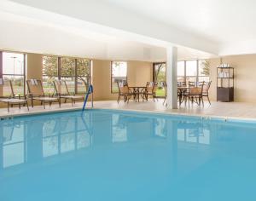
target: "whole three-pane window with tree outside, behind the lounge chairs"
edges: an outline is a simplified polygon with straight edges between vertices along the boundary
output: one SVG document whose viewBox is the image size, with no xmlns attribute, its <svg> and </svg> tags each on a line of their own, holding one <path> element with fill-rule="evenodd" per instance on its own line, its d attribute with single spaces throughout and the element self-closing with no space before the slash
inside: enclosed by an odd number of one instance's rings
<svg viewBox="0 0 256 201">
<path fill-rule="evenodd" d="M 81 94 L 89 89 L 90 60 L 44 55 L 43 80 L 45 94 L 53 94 L 53 81 L 62 79 L 70 93 Z"/>
</svg>

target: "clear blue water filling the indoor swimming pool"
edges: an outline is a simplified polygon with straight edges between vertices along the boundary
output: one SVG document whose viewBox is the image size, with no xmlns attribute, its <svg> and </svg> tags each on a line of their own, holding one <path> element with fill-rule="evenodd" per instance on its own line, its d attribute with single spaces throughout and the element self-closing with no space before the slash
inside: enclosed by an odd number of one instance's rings
<svg viewBox="0 0 256 201">
<path fill-rule="evenodd" d="M 256 200 L 256 123 L 89 110 L 0 122 L 0 200 Z"/>
</svg>

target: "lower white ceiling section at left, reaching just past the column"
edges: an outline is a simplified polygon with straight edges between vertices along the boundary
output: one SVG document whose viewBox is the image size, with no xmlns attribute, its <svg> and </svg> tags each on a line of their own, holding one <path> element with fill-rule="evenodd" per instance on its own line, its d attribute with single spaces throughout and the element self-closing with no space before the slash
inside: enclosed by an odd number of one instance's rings
<svg viewBox="0 0 256 201">
<path fill-rule="evenodd" d="M 101 27 L 82 20 L 9 3 L 2 5 L 0 49 L 104 60 L 166 60 L 163 47 L 106 34 Z M 178 48 L 179 60 L 210 56 L 199 50 Z"/>
</svg>

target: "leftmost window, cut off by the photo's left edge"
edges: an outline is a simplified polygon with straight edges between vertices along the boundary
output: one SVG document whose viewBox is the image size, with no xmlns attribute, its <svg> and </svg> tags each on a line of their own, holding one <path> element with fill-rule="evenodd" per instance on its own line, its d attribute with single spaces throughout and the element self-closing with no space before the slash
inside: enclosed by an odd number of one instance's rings
<svg viewBox="0 0 256 201">
<path fill-rule="evenodd" d="M 4 84 L 1 95 L 12 95 L 9 81 L 13 84 L 15 95 L 25 94 L 25 58 L 26 55 L 11 52 L 0 52 L 3 54 L 3 67 L 0 67 L 0 76 L 3 78 Z"/>
</svg>

